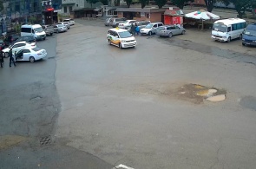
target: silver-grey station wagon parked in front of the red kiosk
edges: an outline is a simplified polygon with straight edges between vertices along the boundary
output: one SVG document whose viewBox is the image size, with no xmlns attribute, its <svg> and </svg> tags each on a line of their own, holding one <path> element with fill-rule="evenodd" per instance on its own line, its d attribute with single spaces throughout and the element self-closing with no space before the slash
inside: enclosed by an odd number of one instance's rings
<svg viewBox="0 0 256 169">
<path fill-rule="evenodd" d="M 175 26 L 175 25 L 165 25 L 165 26 L 158 27 L 158 29 L 156 29 L 157 36 L 172 37 L 176 35 L 184 35 L 185 32 L 186 32 L 186 29 L 179 26 Z"/>
</svg>

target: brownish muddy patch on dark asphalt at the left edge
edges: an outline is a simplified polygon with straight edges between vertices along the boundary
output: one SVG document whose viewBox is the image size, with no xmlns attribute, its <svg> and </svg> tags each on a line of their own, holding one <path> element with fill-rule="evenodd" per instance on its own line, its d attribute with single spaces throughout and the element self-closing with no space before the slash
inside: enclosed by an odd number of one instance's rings
<svg viewBox="0 0 256 169">
<path fill-rule="evenodd" d="M 2 135 L 0 136 L 0 150 L 8 149 L 11 146 L 16 146 L 25 140 L 27 140 L 26 137 L 19 135 Z"/>
</svg>

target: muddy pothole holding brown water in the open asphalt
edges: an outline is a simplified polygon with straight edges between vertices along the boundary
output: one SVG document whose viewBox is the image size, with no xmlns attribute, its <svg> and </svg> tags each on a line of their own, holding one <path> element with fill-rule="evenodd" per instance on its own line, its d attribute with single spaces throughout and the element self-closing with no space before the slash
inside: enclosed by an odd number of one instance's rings
<svg viewBox="0 0 256 169">
<path fill-rule="evenodd" d="M 226 90 L 209 88 L 199 84 L 186 84 L 177 89 L 176 95 L 181 100 L 200 104 L 204 100 L 213 102 L 224 101 L 226 99 Z"/>
</svg>

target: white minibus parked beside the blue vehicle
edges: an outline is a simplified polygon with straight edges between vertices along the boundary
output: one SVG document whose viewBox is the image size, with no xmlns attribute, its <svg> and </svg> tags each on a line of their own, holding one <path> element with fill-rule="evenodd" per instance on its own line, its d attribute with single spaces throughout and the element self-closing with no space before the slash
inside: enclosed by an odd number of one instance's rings
<svg viewBox="0 0 256 169">
<path fill-rule="evenodd" d="M 229 18 L 213 23 L 212 38 L 221 42 L 230 42 L 232 39 L 242 38 L 246 29 L 246 20 Z"/>
</svg>

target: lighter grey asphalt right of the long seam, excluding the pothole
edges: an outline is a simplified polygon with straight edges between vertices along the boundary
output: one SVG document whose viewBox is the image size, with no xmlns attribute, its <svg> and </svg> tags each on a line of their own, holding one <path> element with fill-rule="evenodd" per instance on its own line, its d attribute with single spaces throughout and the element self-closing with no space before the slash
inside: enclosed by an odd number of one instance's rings
<svg viewBox="0 0 256 169">
<path fill-rule="evenodd" d="M 118 49 L 102 21 L 76 22 L 57 37 L 57 140 L 114 166 L 254 168 L 255 48 L 191 29 Z M 182 100 L 187 84 L 225 90 L 226 100 Z"/>
</svg>

